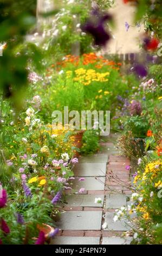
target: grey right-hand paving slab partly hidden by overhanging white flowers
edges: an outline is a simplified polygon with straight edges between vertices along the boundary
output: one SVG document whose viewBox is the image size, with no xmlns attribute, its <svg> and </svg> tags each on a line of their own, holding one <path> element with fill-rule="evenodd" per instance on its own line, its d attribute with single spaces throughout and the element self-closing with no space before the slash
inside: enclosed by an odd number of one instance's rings
<svg viewBox="0 0 162 256">
<path fill-rule="evenodd" d="M 129 225 L 126 223 L 127 220 L 121 220 L 114 222 L 114 213 L 113 212 L 106 212 L 105 214 L 105 222 L 107 222 L 108 227 L 104 230 L 115 230 L 115 231 L 127 231 L 130 230 Z M 130 223 L 128 223 L 130 224 Z"/>
</svg>

